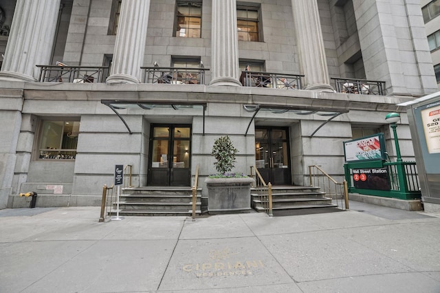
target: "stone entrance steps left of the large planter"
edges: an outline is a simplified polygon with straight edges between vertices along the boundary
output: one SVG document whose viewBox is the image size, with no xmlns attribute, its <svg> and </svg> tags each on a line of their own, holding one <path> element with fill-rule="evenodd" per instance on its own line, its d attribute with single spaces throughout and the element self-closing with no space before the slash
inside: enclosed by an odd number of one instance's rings
<svg viewBox="0 0 440 293">
<path fill-rule="evenodd" d="M 117 202 L 112 202 L 109 215 L 116 215 Z M 201 188 L 197 190 L 196 215 L 201 214 Z M 138 187 L 122 188 L 119 202 L 121 216 L 190 216 L 192 188 Z"/>
</svg>

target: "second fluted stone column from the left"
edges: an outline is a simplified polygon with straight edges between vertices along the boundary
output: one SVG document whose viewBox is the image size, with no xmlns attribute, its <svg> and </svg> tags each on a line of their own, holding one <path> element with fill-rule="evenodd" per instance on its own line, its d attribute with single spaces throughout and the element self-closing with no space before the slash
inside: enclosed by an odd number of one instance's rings
<svg viewBox="0 0 440 293">
<path fill-rule="evenodd" d="M 107 83 L 140 83 L 150 0 L 122 0 Z"/>
</svg>

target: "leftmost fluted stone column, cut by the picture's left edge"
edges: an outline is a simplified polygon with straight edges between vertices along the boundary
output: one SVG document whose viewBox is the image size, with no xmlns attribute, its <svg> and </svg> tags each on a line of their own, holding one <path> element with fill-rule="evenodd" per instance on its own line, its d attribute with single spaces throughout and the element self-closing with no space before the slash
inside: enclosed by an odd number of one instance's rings
<svg viewBox="0 0 440 293">
<path fill-rule="evenodd" d="M 61 0 L 17 0 L 0 79 L 36 81 L 52 54 Z"/>
</svg>

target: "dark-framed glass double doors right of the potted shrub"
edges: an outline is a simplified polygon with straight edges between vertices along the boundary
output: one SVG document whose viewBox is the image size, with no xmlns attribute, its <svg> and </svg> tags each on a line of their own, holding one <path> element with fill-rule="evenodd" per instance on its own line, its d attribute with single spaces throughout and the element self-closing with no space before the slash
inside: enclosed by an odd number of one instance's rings
<svg viewBox="0 0 440 293">
<path fill-rule="evenodd" d="M 266 183 L 292 184 L 288 128 L 257 127 L 255 150 L 256 168 Z"/>
</svg>

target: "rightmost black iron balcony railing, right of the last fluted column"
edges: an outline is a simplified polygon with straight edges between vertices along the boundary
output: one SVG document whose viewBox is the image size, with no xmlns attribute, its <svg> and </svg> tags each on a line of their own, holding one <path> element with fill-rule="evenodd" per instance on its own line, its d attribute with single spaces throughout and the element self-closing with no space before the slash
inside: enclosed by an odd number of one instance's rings
<svg viewBox="0 0 440 293">
<path fill-rule="evenodd" d="M 354 78 L 331 78 L 338 93 L 384 96 L 385 82 Z"/>
</svg>

